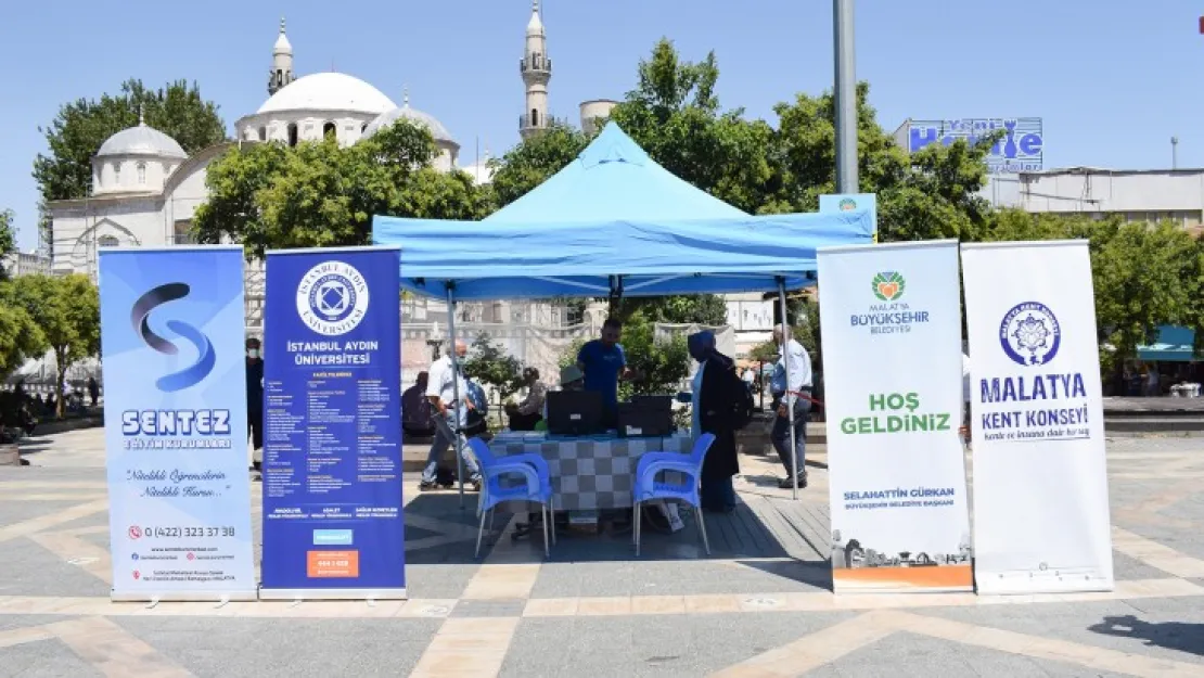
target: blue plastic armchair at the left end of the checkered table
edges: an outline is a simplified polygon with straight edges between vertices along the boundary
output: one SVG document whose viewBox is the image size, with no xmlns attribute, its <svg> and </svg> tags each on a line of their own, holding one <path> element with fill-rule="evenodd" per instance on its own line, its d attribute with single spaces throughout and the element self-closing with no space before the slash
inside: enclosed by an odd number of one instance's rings
<svg viewBox="0 0 1204 678">
<path fill-rule="evenodd" d="M 485 517 L 494 525 L 494 507 L 503 501 L 530 501 L 539 505 L 543 517 L 543 554 L 548 556 L 548 530 L 556 512 L 556 501 L 551 493 L 551 474 L 548 461 L 538 454 L 508 454 L 494 456 L 489 446 L 480 438 L 470 438 L 468 447 L 480 466 L 480 497 L 477 501 L 477 514 L 480 526 L 477 529 L 477 552 L 480 556 L 480 538 L 485 533 Z M 503 487 L 502 478 L 521 478 L 520 484 Z M 556 532 L 551 531 L 551 543 L 556 543 Z"/>
</svg>

